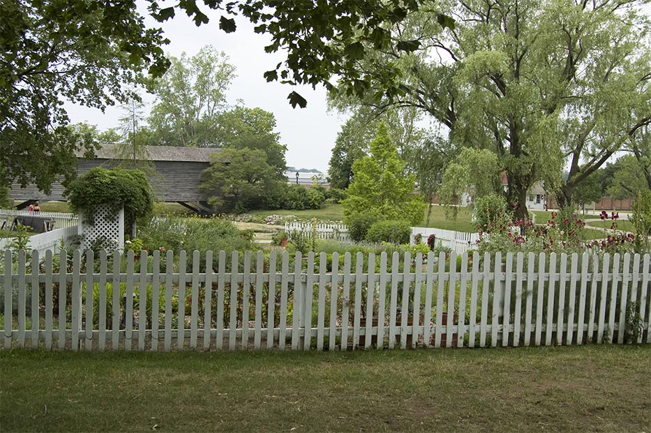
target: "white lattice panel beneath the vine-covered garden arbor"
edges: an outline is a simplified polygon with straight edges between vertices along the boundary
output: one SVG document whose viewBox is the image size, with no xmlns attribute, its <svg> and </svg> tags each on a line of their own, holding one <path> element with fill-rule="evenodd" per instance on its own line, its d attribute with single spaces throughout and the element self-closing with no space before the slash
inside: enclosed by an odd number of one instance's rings
<svg viewBox="0 0 651 433">
<path fill-rule="evenodd" d="M 108 250 L 122 249 L 124 245 L 124 209 L 121 209 L 117 216 L 112 214 L 108 205 L 100 205 L 95 213 L 95 224 L 93 226 L 84 223 L 83 218 L 79 219 L 82 235 L 82 249 L 88 249 L 91 244 L 96 244 L 102 239 L 101 246 Z"/>
</svg>

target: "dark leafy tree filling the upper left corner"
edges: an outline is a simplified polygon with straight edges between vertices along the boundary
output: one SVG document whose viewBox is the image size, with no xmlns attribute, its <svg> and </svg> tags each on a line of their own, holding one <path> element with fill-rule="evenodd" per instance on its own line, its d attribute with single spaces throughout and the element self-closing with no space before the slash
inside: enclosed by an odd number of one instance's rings
<svg viewBox="0 0 651 433">
<path fill-rule="evenodd" d="M 62 101 L 104 108 L 121 85 L 167 67 L 160 29 L 146 29 L 135 1 L 0 2 L 0 184 L 43 191 L 75 175 L 75 150 L 93 142 L 66 126 Z"/>
</svg>

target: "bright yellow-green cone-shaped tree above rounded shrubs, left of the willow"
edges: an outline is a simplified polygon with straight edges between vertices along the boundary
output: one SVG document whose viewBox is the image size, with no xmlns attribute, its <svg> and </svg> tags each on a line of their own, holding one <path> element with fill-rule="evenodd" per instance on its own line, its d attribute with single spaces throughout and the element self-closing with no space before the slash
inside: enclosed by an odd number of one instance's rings
<svg viewBox="0 0 651 433">
<path fill-rule="evenodd" d="M 341 202 L 345 219 L 373 214 L 382 219 L 423 220 L 425 202 L 414 194 L 416 177 L 405 173 L 405 163 L 382 122 L 370 145 L 371 154 L 352 165 L 354 181 Z"/>
</svg>

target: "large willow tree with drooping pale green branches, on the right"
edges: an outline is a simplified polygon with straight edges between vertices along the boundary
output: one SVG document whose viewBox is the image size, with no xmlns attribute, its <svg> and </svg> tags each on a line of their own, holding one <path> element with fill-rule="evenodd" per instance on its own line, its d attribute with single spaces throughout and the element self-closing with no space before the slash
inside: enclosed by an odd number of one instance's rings
<svg viewBox="0 0 651 433">
<path fill-rule="evenodd" d="M 417 107 L 447 127 L 454 145 L 490 149 L 507 173 L 504 196 L 518 219 L 537 181 L 567 205 L 574 186 L 650 122 L 643 3 L 425 2 L 394 26 L 410 39 L 403 50 L 360 62 L 400 71 L 401 92 L 371 89 L 362 103 Z M 456 27 L 437 25 L 433 10 L 452 11 Z"/>
</svg>

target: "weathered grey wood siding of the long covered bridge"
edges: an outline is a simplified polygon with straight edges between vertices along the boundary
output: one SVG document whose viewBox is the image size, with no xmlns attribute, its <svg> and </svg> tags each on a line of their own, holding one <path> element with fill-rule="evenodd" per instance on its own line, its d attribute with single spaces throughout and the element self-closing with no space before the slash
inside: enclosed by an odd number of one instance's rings
<svg viewBox="0 0 651 433">
<path fill-rule="evenodd" d="M 110 166 L 106 159 L 80 160 L 77 173 L 86 173 L 93 167 Z M 150 182 L 158 200 L 167 202 L 177 201 L 206 201 L 208 196 L 199 188 L 201 173 L 208 168 L 207 162 L 190 161 L 156 161 L 158 176 L 150 177 Z M 13 200 L 66 200 L 63 197 L 63 185 L 59 182 L 52 184 L 52 193 L 46 195 L 38 191 L 36 186 L 11 186 L 10 198 Z"/>
</svg>

